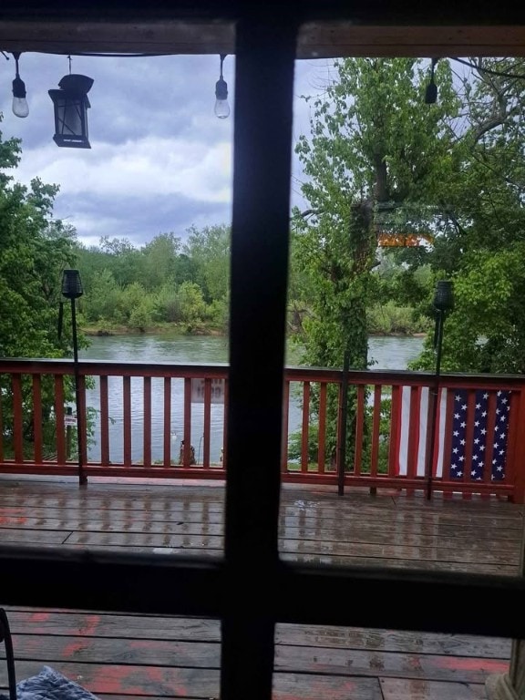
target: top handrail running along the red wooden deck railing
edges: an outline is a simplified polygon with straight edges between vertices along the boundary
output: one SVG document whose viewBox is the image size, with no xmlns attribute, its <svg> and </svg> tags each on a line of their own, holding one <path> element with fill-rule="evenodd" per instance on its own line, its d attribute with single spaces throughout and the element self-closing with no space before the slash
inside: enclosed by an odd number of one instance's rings
<svg viewBox="0 0 525 700">
<path fill-rule="evenodd" d="M 70 358 L 0 358 L 0 374 L 71 375 L 73 360 Z M 116 362 L 108 360 L 80 360 L 82 376 L 180 376 L 180 377 L 226 377 L 230 365 L 227 363 L 145 363 Z M 284 376 L 292 382 L 341 382 L 342 369 L 326 367 L 287 366 Z M 436 380 L 432 372 L 391 369 L 350 369 L 348 382 L 352 385 L 429 386 Z M 449 388 L 487 387 L 516 389 L 525 385 L 525 375 L 448 374 L 439 377 L 441 386 Z"/>
</svg>

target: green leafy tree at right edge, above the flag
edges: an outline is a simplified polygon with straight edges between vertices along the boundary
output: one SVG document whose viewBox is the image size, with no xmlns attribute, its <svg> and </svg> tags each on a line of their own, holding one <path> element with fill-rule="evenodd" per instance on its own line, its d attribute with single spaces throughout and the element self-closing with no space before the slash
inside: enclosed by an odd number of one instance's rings
<svg viewBox="0 0 525 700">
<path fill-rule="evenodd" d="M 448 190 L 446 235 L 429 256 L 454 280 L 444 336 L 445 370 L 525 371 L 525 61 L 470 59 L 457 125 L 460 174 Z M 427 303 L 429 299 L 427 300 Z M 427 343 L 412 366 L 431 368 Z"/>
</svg>

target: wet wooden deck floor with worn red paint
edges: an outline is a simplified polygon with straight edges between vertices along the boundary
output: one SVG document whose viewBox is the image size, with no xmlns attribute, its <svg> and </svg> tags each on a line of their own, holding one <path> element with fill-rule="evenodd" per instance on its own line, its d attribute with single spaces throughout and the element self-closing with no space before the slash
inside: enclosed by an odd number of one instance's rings
<svg viewBox="0 0 525 700">
<path fill-rule="evenodd" d="M 67 481 L 5 479 L 0 538 L 220 557 L 223 496 L 219 484 L 92 482 L 79 490 Z M 324 487 L 284 487 L 281 550 L 295 561 L 516 575 L 522 517 L 522 506 L 495 499 L 428 503 L 395 491 L 339 499 Z M 48 664 L 106 700 L 219 695 L 217 621 L 7 610 L 18 680 Z M 510 659 L 509 640 L 466 635 L 279 624 L 276 642 L 276 700 L 472 700 Z"/>
</svg>

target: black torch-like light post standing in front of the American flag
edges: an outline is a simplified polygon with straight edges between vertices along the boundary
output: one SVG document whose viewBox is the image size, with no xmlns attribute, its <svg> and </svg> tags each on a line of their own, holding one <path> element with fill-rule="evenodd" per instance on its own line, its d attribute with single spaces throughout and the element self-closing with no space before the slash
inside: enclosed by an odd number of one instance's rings
<svg viewBox="0 0 525 700">
<path fill-rule="evenodd" d="M 438 417 L 439 376 L 441 374 L 441 352 L 443 346 L 443 322 L 445 314 L 454 306 L 452 283 L 448 280 L 439 280 L 434 294 L 434 308 L 436 309 L 436 327 L 434 331 L 434 349 L 436 350 L 436 372 L 430 404 L 428 428 L 430 430 L 427 450 L 427 499 L 432 498 L 432 470 L 434 463 L 434 451 L 436 448 L 436 422 Z M 428 398 L 430 399 L 430 393 Z"/>
</svg>

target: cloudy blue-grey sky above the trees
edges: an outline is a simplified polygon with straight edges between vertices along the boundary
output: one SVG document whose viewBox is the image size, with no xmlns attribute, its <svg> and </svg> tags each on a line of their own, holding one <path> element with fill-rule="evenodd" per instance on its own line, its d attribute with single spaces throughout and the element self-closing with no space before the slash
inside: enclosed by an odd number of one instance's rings
<svg viewBox="0 0 525 700">
<path fill-rule="evenodd" d="M 234 97 L 234 61 L 224 79 Z M 214 116 L 218 56 L 72 57 L 71 72 L 94 79 L 89 91 L 91 149 L 58 148 L 47 90 L 69 72 L 65 56 L 20 57 L 29 116 L 11 110 L 15 60 L 0 55 L 0 124 L 4 139 L 22 139 L 16 180 L 39 177 L 59 185 L 55 216 L 77 229 L 80 241 L 128 238 L 139 246 L 161 232 L 184 238 L 188 228 L 230 223 L 233 118 Z M 298 61 L 293 137 L 308 132 L 308 108 L 299 98 L 321 88 L 323 61 Z M 293 198 L 301 172 L 294 162 Z"/>
</svg>

